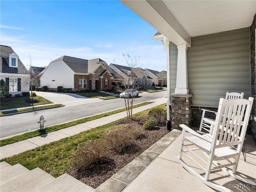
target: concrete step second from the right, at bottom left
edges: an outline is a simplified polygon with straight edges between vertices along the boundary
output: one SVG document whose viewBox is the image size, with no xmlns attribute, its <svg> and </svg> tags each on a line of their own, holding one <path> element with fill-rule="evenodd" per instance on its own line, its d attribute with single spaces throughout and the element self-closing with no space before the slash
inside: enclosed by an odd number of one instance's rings
<svg viewBox="0 0 256 192">
<path fill-rule="evenodd" d="M 35 168 L 1 185 L 1 192 L 33 192 L 42 184 L 50 183 L 55 178 L 40 168 Z M 48 190 L 50 191 L 50 190 Z"/>
</svg>

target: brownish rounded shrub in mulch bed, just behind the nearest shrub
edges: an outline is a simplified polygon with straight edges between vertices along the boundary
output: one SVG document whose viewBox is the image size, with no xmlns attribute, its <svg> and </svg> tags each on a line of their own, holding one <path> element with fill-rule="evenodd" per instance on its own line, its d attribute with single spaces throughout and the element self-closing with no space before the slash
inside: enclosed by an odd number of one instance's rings
<svg viewBox="0 0 256 192">
<path fill-rule="evenodd" d="M 126 128 L 110 130 L 106 136 L 106 142 L 110 149 L 120 153 L 134 143 L 134 135 Z"/>
</svg>

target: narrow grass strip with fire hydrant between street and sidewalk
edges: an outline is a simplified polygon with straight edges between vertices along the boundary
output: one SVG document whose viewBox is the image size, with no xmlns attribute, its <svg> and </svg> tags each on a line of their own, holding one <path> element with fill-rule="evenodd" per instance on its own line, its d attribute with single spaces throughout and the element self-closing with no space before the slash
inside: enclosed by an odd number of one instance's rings
<svg viewBox="0 0 256 192">
<path fill-rule="evenodd" d="M 134 105 L 133 108 L 144 106 L 144 105 L 147 105 L 147 104 L 150 104 L 150 103 L 152 103 L 152 102 L 144 102 L 144 103 L 141 103 L 141 104 L 137 104 L 137 105 Z M 98 118 L 102 118 L 102 117 L 106 117 L 106 116 L 109 116 L 109 115 L 112 115 L 112 114 L 120 113 L 120 112 L 123 112 L 125 110 L 126 109 L 123 108 L 123 109 L 120 109 L 120 110 L 115 110 L 115 111 L 100 114 L 100 115 L 86 117 L 86 118 L 82 118 L 80 120 L 76 120 L 76 121 L 72 121 L 72 122 L 68 122 L 68 123 L 64 123 L 64 124 L 60 124 L 60 125 L 54 125 L 54 126 L 46 127 L 46 132 L 44 132 L 44 133 L 40 133 L 40 132 L 38 132 L 38 130 L 27 132 L 27 133 L 24 133 L 22 135 L 18 135 L 18 136 L 14 136 L 14 137 L 11 137 L 11 138 L 8 138 L 8 139 L 1 140 L 0 141 L 0 146 L 2 147 L 2 146 L 5 146 L 5 145 L 8 145 L 8 144 L 12 144 L 12 143 L 19 142 L 19 141 L 22 141 L 22 140 L 26 140 L 26 139 L 29 139 L 29 138 L 32 138 L 32 137 L 36 137 L 36 136 L 39 136 L 39 135 L 42 135 L 42 134 L 54 132 L 54 131 L 57 131 L 57 130 L 60 130 L 60 129 L 64 129 L 64 128 L 71 127 L 71 126 L 74 126 L 74 125 L 78 125 L 78 124 L 81 124 L 81 123 L 92 121 L 92 120 L 95 120 L 95 119 L 98 119 Z"/>
</svg>

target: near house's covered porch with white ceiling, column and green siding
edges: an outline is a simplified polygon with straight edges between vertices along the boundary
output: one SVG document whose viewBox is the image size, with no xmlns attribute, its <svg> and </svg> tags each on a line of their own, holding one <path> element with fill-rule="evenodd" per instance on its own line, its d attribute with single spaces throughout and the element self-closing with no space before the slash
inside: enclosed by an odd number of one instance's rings
<svg viewBox="0 0 256 192">
<path fill-rule="evenodd" d="M 152 39 L 167 51 L 172 128 L 198 126 L 200 108 L 216 109 L 227 91 L 254 96 L 256 116 L 255 0 L 120 1 L 158 31 Z M 250 131 L 256 140 L 255 123 Z"/>
</svg>

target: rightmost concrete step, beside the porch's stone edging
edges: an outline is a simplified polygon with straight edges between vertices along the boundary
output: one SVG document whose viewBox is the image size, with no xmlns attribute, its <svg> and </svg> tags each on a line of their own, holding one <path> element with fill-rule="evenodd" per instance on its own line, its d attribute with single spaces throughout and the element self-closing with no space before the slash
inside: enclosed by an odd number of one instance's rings
<svg viewBox="0 0 256 192">
<path fill-rule="evenodd" d="M 40 192 L 92 192 L 93 190 L 94 188 L 80 182 L 66 173 L 37 189 L 37 191 Z"/>
</svg>

